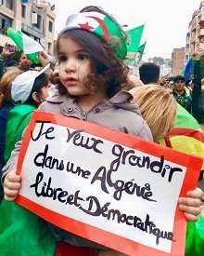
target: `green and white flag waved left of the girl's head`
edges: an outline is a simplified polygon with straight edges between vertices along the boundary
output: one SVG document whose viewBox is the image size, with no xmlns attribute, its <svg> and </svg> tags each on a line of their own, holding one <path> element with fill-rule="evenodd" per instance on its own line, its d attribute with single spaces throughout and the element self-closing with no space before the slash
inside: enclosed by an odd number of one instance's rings
<svg viewBox="0 0 204 256">
<path fill-rule="evenodd" d="M 40 63 L 38 54 L 39 51 L 44 51 L 44 48 L 37 41 L 21 31 L 15 31 L 11 27 L 6 30 L 6 34 L 16 43 L 20 50 L 25 53 L 33 64 Z"/>
</svg>

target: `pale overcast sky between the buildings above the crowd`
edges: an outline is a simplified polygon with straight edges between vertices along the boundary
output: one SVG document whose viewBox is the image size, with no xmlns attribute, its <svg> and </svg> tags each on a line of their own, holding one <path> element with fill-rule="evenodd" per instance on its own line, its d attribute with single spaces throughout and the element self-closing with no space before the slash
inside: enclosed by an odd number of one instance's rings
<svg viewBox="0 0 204 256">
<path fill-rule="evenodd" d="M 185 47 L 185 35 L 200 0 L 50 0 L 55 4 L 56 30 L 67 17 L 88 5 L 103 7 L 128 29 L 145 24 L 141 44 L 147 41 L 144 60 L 154 56 L 171 59 L 174 47 Z"/>
</svg>

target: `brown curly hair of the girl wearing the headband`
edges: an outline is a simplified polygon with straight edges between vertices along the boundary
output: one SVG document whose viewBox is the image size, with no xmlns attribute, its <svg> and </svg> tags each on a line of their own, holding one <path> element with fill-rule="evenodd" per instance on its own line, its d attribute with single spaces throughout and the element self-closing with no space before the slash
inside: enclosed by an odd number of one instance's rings
<svg viewBox="0 0 204 256">
<path fill-rule="evenodd" d="M 99 7 L 85 7 L 81 10 L 81 12 L 85 11 L 98 11 L 108 15 Z M 108 15 L 108 17 L 110 17 L 111 20 L 114 20 L 111 16 Z M 129 68 L 115 54 L 114 47 L 117 46 L 108 44 L 102 38 L 99 38 L 89 31 L 82 29 L 70 29 L 58 35 L 57 45 L 55 48 L 56 55 L 59 51 L 58 41 L 61 37 L 70 37 L 83 47 L 85 51 L 87 51 L 91 60 L 91 73 L 88 74 L 86 87 L 91 87 L 91 84 L 93 83 L 98 86 L 103 86 L 106 88 L 108 98 L 111 98 L 122 89 L 124 84 L 127 83 Z M 50 81 L 57 85 L 59 94 L 68 94 L 67 89 L 60 83 L 57 74 L 51 76 Z"/>
</svg>

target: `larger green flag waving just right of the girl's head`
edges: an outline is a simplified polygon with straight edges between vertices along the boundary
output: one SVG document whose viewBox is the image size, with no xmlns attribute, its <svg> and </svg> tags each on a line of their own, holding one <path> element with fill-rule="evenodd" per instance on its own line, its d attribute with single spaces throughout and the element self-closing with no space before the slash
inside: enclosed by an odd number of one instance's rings
<svg viewBox="0 0 204 256">
<path fill-rule="evenodd" d="M 134 54 L 138 50 L 140 41 L 143 35 L 145 24 L 135 27 L 134 29 L 126 31 L 128 34 L 129 42 L 127 44 L 128 55 Z"/>
</svg>

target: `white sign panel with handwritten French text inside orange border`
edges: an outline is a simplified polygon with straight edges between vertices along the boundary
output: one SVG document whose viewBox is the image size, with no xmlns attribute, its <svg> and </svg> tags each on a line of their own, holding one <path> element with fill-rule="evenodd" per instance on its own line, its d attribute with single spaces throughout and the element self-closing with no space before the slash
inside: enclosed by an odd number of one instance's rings
<svg viewBox="0 0 204 256">
<path fill-rule="evenodd" d="M 171 252 L 186 167 L 167 160 L 162 151 L 149 155 L 83 128 L 38 120 L 21 171 L 19 195 L 75 221 Z"/>
</svg>

